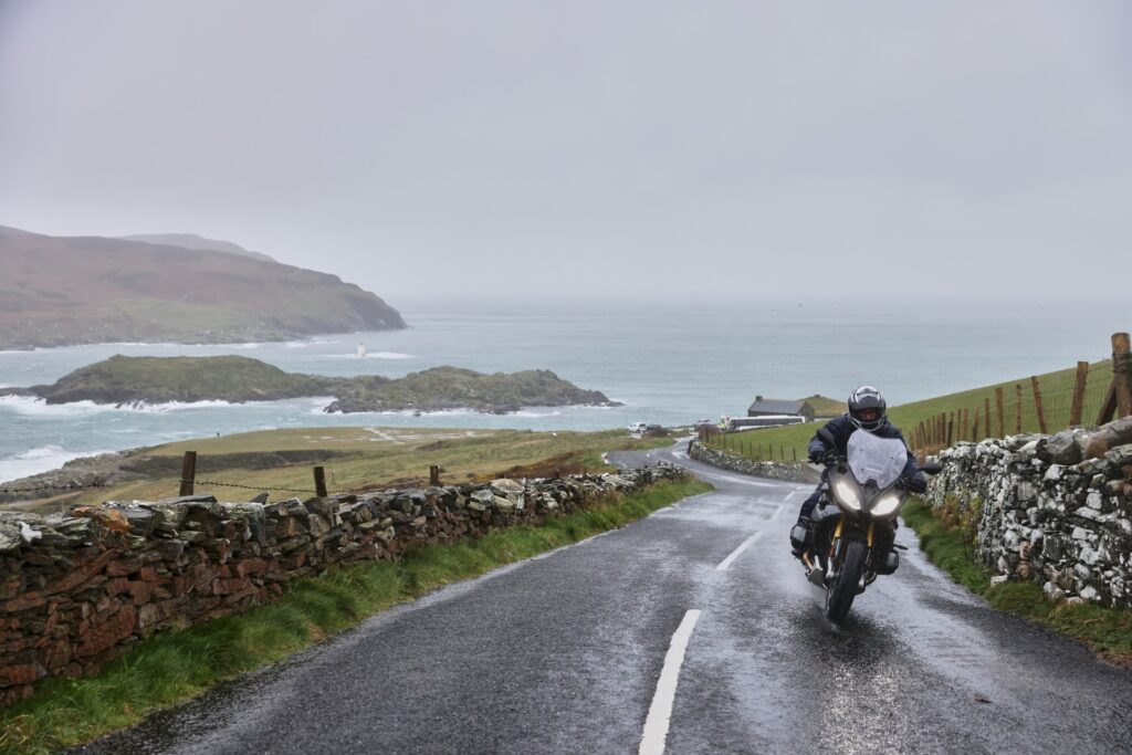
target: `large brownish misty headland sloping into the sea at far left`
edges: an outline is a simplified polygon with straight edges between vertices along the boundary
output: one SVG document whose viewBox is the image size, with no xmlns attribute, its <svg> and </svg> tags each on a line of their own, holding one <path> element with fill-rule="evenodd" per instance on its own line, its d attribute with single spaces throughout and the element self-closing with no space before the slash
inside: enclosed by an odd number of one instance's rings
<svg viewBox="0 0 1132 755">
<path fill-rule="evenodd" d="M 403 327 L 395 309 L 336 275 L 247 254 L 0 226 L 0 349 Z"/>
</svg>

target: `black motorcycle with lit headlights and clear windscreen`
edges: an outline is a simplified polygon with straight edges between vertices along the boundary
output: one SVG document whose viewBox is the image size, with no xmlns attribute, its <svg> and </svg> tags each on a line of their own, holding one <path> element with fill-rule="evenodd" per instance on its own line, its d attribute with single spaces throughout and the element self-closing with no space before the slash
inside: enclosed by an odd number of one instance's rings
<svg viewBox="0 0 1132 755">
<path fill-rule="evenodd" d="M 833 445 L 832 437 L 827 443 Z M 872 432 L 854 432 L 844 456 L 826 458 L 822 497 L 812 517 L 813 551 L 804 552 L 801 560 L 807 578 L 825 589 L 825 616 L 834 624 L 849 616 L 854 599 L 877 576 L 900 566 L 897 549 L 907 548 L 895 544 L 897 515 L 908 499 L 907 463 L 902 440 Z M 936 474 L 942 469 L 932 463 L 920 471 Z"/>
</svg>

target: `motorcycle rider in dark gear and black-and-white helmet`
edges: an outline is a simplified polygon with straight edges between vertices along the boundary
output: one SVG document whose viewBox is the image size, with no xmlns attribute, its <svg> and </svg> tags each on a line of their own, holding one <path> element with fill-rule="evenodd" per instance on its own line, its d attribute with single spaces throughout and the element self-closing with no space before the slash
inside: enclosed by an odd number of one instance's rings
<svg viewBox="0 0 1132 755">
<path fill-rule="evenodd" d="M 881 438 L 899 438 L 903 440 L 903 434 L 889 422 L 886 409 L 887 404 L 884 401 L 884 396 L 873 386 L 863 385 L 855 389 L 849 394 L 849 411 L 826 422 L 809 441 L 809 461 L 821 464 L 831 454 L 844 456 L 848 453 L 849 436 L 858 430 L 872 432 Z M 794 555 L 798 558 L 801 558 L 801 555 L 809 550 L 814 542 L 814 529 L 811 515 L 814 513 L 814 506 L 817 505 L 817 501 L 826 489 L 827 472 L 827 469 L 822 472 L 822 482 L 814 490 L 813 495 L 803 501 L 801 511 L 798 513 L 798 522 L 791 530 L 790 546 Z M 900 484 L 906 486 L 912 492 L 924 492 L 927 490 L 927 478 L 920 472 L 919 465 L 916 463 L 916 456 L 911 451 L 908 452 L 908 463 L 904 465 Z M 798 530 L 799 526 L 805 531 L 805 539 L 798 539 L 797 537 L 797 533 L 800 532 Z"/>
</svg>

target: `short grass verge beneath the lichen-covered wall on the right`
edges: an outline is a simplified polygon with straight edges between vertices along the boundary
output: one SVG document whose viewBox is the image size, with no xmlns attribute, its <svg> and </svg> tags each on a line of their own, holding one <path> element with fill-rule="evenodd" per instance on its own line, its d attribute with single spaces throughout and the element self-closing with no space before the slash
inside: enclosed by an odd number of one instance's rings
<svg viewBox="0 0 1132 755">
<path fill-rule="evenodd" d="M 961 527 L 946 525 L 931 506 L 915 498 L 901 516 L 919 535 L 920 549 L 932 563 L 994 608 L 1044 624 L 1083 642 L 1106 660 L 1132 668 L 1132 611 L 1096 603 L 1053 603 L 1034 581 L 992 585 L 990 569 L 971 560 Z"/>
</svg>

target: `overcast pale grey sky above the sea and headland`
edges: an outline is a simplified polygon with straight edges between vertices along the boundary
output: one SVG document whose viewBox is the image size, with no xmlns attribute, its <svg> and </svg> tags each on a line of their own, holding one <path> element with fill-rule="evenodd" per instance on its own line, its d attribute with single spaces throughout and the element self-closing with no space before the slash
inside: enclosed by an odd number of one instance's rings
<svg viewBox="0 0 1132 755">
<path fill-rule="evenodd" d="M 0 0 L 0 224 L 195 232 L 394 304 L 1115 295 L 1130 32 L 1120 1 Z"/>
</svg>

